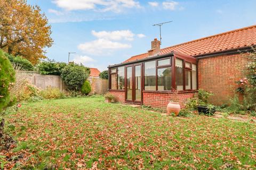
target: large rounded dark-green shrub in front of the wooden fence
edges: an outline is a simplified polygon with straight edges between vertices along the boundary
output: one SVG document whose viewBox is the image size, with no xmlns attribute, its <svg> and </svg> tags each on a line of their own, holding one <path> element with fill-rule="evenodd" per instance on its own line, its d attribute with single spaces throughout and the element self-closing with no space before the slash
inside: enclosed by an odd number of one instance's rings
<svg viewBox="0 0 256 170">
<path fill-rule="evenodd" d="M 80 91 L 89 75 L 89 68 L 83 65 L 69 64 L 62 69 L 61 78 L 69 90 Z"/>
</svg>

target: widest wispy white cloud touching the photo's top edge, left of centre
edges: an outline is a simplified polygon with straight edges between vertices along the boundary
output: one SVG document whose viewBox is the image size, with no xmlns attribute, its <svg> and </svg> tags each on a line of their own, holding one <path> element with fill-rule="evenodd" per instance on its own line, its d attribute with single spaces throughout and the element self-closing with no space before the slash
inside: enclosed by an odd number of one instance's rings
<svg viewBox="0 0 256 170">
<path fill-rule="evenodd" d="M 122 8 L 140 7 L 134 0 L 54 0 L 58 7 L 65 10 L 99 10 L 121 12 Z"/>
</svg>

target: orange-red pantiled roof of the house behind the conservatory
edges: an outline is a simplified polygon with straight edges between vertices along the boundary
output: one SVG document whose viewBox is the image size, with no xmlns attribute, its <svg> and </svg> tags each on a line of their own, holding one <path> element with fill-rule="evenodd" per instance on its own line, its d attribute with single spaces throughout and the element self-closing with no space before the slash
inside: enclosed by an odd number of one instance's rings
<svg viewBox="0 0 256 170">
<path fill-rule="evenodd" d="M 256 45 L 256 25 L 166 47 L 160 50 L 159 55 L 174 51 L 190 56 L 197 56 L 252 45 Z M 146 57 L 148 57 L 148 53 L 135 55 L 124 61 L 124 63 Z"/>
</svg>

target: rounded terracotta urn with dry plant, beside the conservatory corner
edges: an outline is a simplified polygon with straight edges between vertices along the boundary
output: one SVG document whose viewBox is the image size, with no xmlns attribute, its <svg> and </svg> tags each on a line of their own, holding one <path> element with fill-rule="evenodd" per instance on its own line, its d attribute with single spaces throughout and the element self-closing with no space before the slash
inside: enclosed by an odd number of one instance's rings
<svg viewBox="0 0 256 170">
<path fill-rule="evenodd" d="M 171 101 L 167 105 L 167 115 L 174 113 L 175 116 L 178 116 L 179 112 L 180 112 L 180 105 L 179 105 L 178 91 L 173 89 Z"/>
</svg>

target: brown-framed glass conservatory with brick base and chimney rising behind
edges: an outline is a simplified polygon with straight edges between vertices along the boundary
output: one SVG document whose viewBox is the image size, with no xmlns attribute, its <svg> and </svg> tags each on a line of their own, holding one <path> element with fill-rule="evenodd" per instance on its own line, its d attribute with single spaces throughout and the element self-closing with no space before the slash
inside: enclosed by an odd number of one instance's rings
<svg viewBox="0 0 256 170">
<path fill-rule="evenodd" d="M 158 43 L 156 39 L 154 41 Z M 154 41 L 152 54 L 157 49 Z M 178 52 L 156 54 L 108 68 L 109 92 L 122 103 L 166 107 L 173 90 L 178 91 L 181 100 L 191 97 L 188 93 L 194 95 L 197 91 L 196 58 Z"/>
</svg>

